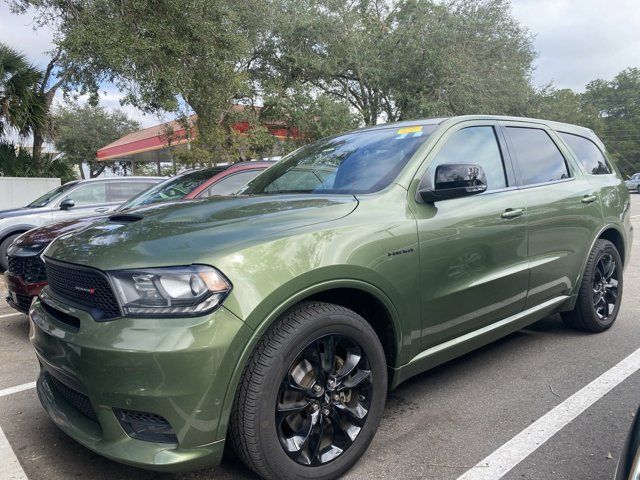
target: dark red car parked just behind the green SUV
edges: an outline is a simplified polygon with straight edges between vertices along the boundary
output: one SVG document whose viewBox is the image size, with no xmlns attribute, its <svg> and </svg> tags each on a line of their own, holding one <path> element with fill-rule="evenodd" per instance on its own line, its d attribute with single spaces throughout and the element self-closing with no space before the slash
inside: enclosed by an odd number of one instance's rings
<svg viewBox="0 0 640 480">
<path fill-rule="evenodd" d="M 190 170 L 145 190 L 111 215 L 154 203 L 229 195 L 273 163 L 242 162 L 228 167 Z M 7 303 L 20 312 L 28 313 L 33 297 L 37 297 L 47 284 L 44 263 L 40 259 L 42 251 L 57 237 L 86 227 L 98 218 L 101 217 L 54 223 L 34 228 L 16 238 L 7 251 Z"/>
</svg>

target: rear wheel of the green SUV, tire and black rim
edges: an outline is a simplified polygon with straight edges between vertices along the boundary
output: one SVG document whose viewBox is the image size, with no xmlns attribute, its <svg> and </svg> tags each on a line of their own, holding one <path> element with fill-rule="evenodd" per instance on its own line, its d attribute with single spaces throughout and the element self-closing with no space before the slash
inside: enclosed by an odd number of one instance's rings
<svg viewBox="0 0 640 480">
<path fill-rule="evenodd" d="M 610 280 L 603 275 L 601 261 L 613 262 Z M 615 275 L 615 279 L 613 278 Z M 607 289 L 606 285 L 614 285 Z M 562 312 L 562 320 L 571 328 L 585 332 L 600 333 L 611 328 L 618 317 L 622 300 L 623 276 L 622 259 L 613 243 L 608 240 L 596 241 L 582 276 L 580 291 L 574 309 Z M 615 293 L 614 293 L 615 292 Z M 595 305 L 596 299 L 598 306 Z M 610 303 L 614 300 L 614 303 Z"/>
</svg>

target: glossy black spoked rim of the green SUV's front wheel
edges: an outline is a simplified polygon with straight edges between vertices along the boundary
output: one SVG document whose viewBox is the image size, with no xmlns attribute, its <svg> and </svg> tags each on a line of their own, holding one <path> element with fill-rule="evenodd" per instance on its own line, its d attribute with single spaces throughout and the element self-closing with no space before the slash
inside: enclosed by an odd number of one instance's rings
<svg viewBox="0 0 640 480">
<path fill-rule="evenodd" d="M 278 392 L 275 419 L 284 451 L 307 466 L 339 457 L 367 421 L 372 388 L 369 361 L 351 338 L 326 335 L 309 344 Z"/>
</svg>

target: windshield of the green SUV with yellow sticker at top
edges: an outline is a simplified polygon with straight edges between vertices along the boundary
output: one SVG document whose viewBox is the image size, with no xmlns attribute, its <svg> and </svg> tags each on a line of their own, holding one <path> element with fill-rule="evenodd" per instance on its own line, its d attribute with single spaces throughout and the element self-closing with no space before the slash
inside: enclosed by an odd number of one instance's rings
<svg viewBox="0 0 640 480">
<path fill-rule="evenodd" d="M 395 180 L 435 128 L 385 128 L 319 140 L 293 152 L 237 193 L 376 192 Z"/>
</svg>

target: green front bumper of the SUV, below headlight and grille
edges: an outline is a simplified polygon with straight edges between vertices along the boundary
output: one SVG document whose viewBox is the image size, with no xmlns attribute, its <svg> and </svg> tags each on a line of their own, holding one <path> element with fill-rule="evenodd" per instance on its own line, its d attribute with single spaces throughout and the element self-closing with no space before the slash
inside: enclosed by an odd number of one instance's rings
<svg viewBox="0 0 640 480">
<path fill-rule="evenodd" d="M 228 415 L 222 405 L 251 335 L 224 307 L 197 318 L 95 322 L 45 288 L 31 308 L 30 324 L 42 367 L 38 396 L 53 422 L 76 441 L 151 470 L 178 472 L 220 462 L 224 437 L 217 431 Z M 86 398 L 95 417 L 61 394 L 58 382 Z M 177 443 L 132 438 L 114 409 L 164 417 Z"/>
</svg>

